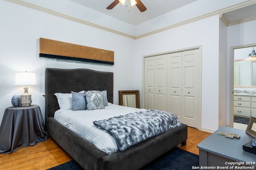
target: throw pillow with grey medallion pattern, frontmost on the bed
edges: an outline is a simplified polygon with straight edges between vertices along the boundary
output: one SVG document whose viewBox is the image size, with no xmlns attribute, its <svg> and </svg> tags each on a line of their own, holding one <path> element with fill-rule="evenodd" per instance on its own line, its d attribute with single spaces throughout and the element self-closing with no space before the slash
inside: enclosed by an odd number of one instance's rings
<svg viewBox="0 0 256 170">
<path fill-rule="evenodd" d="M 88 110 L 105 109 L 102 91 L 86 91 L 84 94 L 86 96 Z"/>
</svg>

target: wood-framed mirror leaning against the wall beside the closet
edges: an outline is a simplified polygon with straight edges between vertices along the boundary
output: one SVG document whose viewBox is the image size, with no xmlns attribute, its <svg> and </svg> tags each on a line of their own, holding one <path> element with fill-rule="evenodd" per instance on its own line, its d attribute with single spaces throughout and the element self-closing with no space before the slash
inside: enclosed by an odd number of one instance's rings
<svg viewBox="0 0 256 170">
<path fill-rule="evenodd" d="M 140 92 L 138 90 L 118 91 L 119 105 L 140 108 Z"/>
</svg>

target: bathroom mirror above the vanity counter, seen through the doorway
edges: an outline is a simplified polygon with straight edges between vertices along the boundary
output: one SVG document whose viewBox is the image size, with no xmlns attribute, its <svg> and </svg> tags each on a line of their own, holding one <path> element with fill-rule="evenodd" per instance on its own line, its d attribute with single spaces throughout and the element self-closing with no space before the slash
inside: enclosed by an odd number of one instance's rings
<svg viewBox="0 0 256 170">
<path fill-rule="evenodd" d="M 256 87 L 256 58 L 248 57 L 252 47 L 234 49 L 234 87 Z"/>
</svg>

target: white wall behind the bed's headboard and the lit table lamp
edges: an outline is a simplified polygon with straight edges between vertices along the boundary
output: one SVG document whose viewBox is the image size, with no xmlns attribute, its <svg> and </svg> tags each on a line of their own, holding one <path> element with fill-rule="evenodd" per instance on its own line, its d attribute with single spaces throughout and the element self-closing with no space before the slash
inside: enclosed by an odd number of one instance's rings
<svg viewBox="0 0 256 170">
<path fill-rule="evenodd" d="M 134 41 L 84 24 L 0 1 L 0 122 L 11 98 L 24 92 L 14 86 L 17 71 L 36 72 L 37 86 L 28 90 L 32 104 L 40 106 L 44 117 L 42 97 L 43 59 L 39 57 L 39 38 L 76 43 L 114 51 L 114 103 L 118 90 L 136 89 L 134 85 Z"/>
</svg>

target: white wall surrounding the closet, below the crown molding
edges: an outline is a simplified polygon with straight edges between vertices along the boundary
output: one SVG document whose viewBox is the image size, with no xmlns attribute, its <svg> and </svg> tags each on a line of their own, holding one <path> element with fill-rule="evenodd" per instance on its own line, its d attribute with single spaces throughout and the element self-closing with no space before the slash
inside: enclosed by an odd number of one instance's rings
<svg viewBox="0 0 256 170">
<path fill-rule="evenodd" d="M 135 44 L 135 78 L 140 90 L 143 55 L 202 45 L 202 129 L 218 129 L 219 16 L 140 38 Z"/>
</svg>

